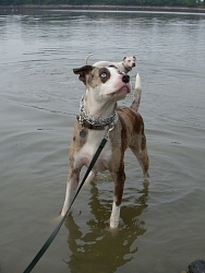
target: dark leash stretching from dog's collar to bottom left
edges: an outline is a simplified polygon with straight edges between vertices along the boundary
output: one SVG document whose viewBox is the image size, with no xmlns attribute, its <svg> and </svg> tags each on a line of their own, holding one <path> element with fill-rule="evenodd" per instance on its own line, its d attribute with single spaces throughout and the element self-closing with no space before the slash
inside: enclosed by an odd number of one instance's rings
<svg viewBox="0 0 205 273">
<path fill-rule="evenodd" d="M 87 171 L 85 173 L 85 176 L 84 176 L 84 178 L 83 178 L 81 185 L 79 186 L 79 188 L 77 188 L 77 190 L 76 190 L 76 192 L 75 192 L 75 195 L 74 195 L 74 198 L 73 198 L 73 200 L 72 200 L 72 202 L 71 202 L 71 204 L 70 204 L 70 206 L 69 206 L 69 209 L 68 209 L 68 211 L 67 211 L 67 213 L 64 214 L 64 216 L 62 217 L 62 219 L 60 221 L 60 223 L 58 224 L 58 226 L 55 228 L 55 230 L 52 232 L 52 234 L 48 237 L 47 241 L 44 244 L 44 246 L 41 247 L 41 249 L 38 251 L 38 253 L 36 254 L 36 257 L 33 259 L 33 261 L 32 261 L 32 262 L 29 263 L 29 265 L 24 270 L 23 273 L 29 273 L 29 272 L 34 269 L 34 266 L 36 265 L 36 263 L 37 263 L 37 262 L 39 261 L 39 259 L 44 256 L 44 253 L 46 252 L 46 250 L 49 248 L 50 244 L 51 244 L 51 242 L 53 241 L 53 239 L 56 238 L 56 236 L 57 236 L 58 232 L 60 230 L 60 228 L 61 228 L 61 226 L 62 226 L 62 223 L 64 222 L 64 219 L 65 219 L 65 217 L 67 217 L 67 215 L 68 215 L 68 213 L 69 213 L 69 211 L 70 211 L 70 209 L 71 209 L 71 206 L 72 206 L 72 204 L 74 203 L 74 201 L 75 201 L 75 199 L 76 199 L 76 197 L 77 197 L 77 194 L 79 194 L 79 192 L 80 192 L 80 190 L 81 190 L 81 188 L 83 187 L 83 185 L 84 185 L 84 182 L 85 182 L 87 176 L 89 175 L 89 173 L 91 173 L 91 170 L 93 169 L 93 167 L 94 167 L 94 165 L 95 165 L 97 158 L 99 157 L 99 155 L 100 155 L 100 153 L 101 153 L 101 150 L 105 147 L 105 145 L 106 145 L 106 143 L 107 143 L 107 141 L 108 141 L 109 132 L 110 132 L 112 129 L 113 129 L 113 127 L 109 128 L 108 131 L 107 131 L 107 133 L 106 133 L 106 135 L 102 138 L 102 140 L 101 140 L 101 142 L 100 142 L 100 144 L 99 144 L 99 146 L 98 146 L 98 149 L 97 149 L 97 151 L 96 151 L 96 153 L 95 153 L 95 155 L 94 155 L 94 157 L 93 157 L 93 159 L 92 159 L 92 162 L 91 162 L 91 164 L 89 164 L 89 166 L 88 166 L 88 168 L 87 168 Z"/>
</svg>

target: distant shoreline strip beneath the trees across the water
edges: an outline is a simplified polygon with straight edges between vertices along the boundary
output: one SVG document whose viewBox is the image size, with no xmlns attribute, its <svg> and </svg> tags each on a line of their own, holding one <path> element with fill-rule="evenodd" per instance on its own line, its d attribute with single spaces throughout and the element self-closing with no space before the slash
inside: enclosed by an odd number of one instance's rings
<svg viewBox="0 0 205 273">
<path fill-rule="evenodd" d="M 51 9 L 51 10 L 85 10 L 85 11 L 153 11 L 205 13 L 205 8 L 186 7 L 142 7 L 142 5 L 69 5 L 69 4 L 22 4 L 0 5 L 0 9 Z"/>
</svg>

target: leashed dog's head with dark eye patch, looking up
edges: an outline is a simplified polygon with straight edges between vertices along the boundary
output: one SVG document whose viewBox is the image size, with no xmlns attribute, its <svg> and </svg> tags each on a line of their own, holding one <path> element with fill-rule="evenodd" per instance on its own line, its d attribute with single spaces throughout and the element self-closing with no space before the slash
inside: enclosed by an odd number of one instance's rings
<svg viewBox="0 0 205 273">
<path fill-rule="evenodd" d="M 85 66 L 73 69 L 95 99 L 123 99 L 131 92 L 130 76 L 120 73 L 116 67 L 96 68 Z"/>
</svg>

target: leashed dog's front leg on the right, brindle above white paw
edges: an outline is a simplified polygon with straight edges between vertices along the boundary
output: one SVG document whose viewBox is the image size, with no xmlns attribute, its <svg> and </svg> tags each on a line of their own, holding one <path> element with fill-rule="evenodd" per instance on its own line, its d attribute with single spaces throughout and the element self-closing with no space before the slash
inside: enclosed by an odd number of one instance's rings
<svg viewBox="0 0 205 273">
<path fill-rule="evenodd" d="M 118 174 L 112 175 L 114 179 L 114 191 L 113 191 L 113 203 L 112 203 L 112 211 L 110 216 L 110 227 L 117 228 L 120 221 L 120 205 L 122 202 L 122 194 L 124 188 L 124 166 L 120 168 Z"/>
</svg>

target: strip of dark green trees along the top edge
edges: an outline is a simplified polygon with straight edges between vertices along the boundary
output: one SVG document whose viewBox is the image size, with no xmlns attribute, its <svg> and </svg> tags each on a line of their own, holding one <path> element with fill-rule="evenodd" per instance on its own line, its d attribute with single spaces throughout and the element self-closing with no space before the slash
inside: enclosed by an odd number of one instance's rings
<svg viewBox="0 0 205 273">
<path fill-rule="evenodd" d="M 197 7 L 205 0 L 0 0 L 0 4 L 100 4 L 100 5 L 170 5 Z"/>
</svg>

